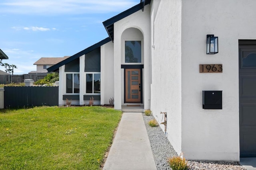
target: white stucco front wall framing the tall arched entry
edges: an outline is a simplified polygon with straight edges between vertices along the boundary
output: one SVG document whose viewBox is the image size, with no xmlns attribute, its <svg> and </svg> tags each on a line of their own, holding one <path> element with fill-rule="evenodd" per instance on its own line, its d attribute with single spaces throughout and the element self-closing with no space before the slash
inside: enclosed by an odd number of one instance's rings
<svg viewBox="0 0 256 170">
<path fill-rule="evenodd" d="M 124 69 L 121 69 L 122 51 L 121 38 L 124 30 L 128 28 L 137 28 L 142 32 L 144 37 L 144 69 L 143 69 L 143 101 L 144 108 L 148 109 L 148 100 L 150 99 L 150 6 L 145 6 L 144 12 L 139 10 L 126 18 L 114 23 L 114 99 L 115 109 L 121 109 L 124 104 L 124 93 L 122 87 L 124 86 Z"/>
</svg>

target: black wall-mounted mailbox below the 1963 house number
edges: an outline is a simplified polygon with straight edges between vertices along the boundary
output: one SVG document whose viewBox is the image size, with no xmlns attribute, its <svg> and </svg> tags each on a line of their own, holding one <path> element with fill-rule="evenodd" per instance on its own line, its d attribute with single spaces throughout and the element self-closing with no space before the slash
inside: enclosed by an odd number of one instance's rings
<svg viewBox="0 0 256 170">
<path fill-rule="evenodd" d="M 203 109 L 222 109 L 222 91 L 203 91 Z"/>
</svg>

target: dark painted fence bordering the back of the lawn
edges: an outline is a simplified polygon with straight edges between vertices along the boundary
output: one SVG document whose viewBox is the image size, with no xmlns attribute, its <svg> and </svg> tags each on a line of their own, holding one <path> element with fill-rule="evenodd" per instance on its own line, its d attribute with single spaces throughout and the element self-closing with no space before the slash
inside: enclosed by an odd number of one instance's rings
<svg viewBox="0 0 256 170">
<path fill-rule="evenodd" d="M 58 106 L 58 86 L 4 86 L 4 108 Z"/>
</svg>

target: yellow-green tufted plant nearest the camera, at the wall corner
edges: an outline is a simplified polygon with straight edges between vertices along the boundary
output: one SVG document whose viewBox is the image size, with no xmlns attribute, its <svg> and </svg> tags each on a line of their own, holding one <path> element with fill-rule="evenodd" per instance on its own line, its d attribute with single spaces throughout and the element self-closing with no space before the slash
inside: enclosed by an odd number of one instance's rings
<svg viewBox="0 0 256 170">
<path fill-rule="evenodd" d="M 172 168 L 172 170 L 187 170 L 188 169 L 188 161 L 182 156 L 173 156 L 172 158 L 168 158 L 168 164 Z"/>
</svg>

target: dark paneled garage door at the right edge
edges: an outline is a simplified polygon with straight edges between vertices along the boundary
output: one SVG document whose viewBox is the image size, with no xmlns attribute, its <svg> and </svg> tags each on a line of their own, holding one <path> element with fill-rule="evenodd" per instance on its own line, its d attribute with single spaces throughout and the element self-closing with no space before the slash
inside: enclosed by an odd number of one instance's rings
<svg viewBox="0 0 256 170">
<path fill-rule="evenodd" d="M 256 41 L 239 41 L 240 157 L 256 157 Z"/>
</svg>

